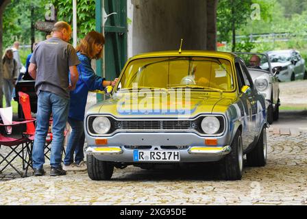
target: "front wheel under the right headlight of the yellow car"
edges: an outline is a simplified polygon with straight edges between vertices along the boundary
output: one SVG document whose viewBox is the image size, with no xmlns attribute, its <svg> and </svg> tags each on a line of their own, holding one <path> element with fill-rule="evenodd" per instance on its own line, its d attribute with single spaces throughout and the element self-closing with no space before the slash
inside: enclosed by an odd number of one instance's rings
<svg viewBox="0 0 307 219">
<path fill-rule="evenodd" d="M 240 180 L 243 175 L 243 142 L 241 131 L 236 132 L 232 151 L 221 161 L 221 174 L 226 180 Z"/>
</svg>

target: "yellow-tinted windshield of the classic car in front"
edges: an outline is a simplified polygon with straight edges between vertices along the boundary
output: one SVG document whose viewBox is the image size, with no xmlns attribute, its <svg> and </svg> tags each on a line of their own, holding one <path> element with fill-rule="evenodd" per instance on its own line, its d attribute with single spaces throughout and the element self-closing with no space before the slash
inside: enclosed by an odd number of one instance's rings
<svg viewBox="0 0 307 219">
<path fill-rule="evenodd" d="M 117 90 L 133 88 L 232 91 L 232 66 L 215 57 L 142 58 L 128 64 Z"/>
</svg>

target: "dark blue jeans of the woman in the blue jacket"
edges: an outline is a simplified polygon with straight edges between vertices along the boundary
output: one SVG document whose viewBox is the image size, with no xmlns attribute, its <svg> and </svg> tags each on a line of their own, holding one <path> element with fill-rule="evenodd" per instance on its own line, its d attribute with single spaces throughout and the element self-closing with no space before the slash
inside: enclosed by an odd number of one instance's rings
<svg viewBox="0 0 307 219">
<path fill-rule="evenodd" d="M 66 156 L 64 159 L 64 165 L 67 166 L 73 163 L 73 153 L 75 153 L 76 164 L 83 161 L 85 139 L 83 121 L 69 117 L 69 125 L 71 125 L 71 136 L 69 136 L 69 142 L 66 145 Z"/>
</svg>

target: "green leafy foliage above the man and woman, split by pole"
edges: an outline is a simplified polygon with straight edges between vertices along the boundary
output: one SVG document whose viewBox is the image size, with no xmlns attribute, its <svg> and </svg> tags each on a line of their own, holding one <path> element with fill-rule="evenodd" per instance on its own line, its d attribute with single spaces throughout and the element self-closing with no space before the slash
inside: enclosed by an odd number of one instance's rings
<svg viewBox="0 0 307 219">
<path fill-rule="evenodd" d="M 58 12 L 58 21 L 73 23 L 73 1 L 51 0 Z M 77 36 L 79 39 L 95 30 L 95 0 L 77 1 Z"/>
</svg>

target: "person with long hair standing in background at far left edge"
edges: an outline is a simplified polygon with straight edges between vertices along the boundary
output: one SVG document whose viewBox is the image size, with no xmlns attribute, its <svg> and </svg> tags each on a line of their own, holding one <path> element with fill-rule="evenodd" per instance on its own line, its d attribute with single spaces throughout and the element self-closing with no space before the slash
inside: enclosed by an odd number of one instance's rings
<svg viewBox="0 0 307 219">
<path fill-rule="evenodd" d="M 13 57 L 12 49 L 5 49 L 2 57 L 3 65 L 3 93 L 5 96 L 5 106 L 10 107 L 12 101 L 12 92 L 14 90 L 14 81 L 18 76 L 17 62 Z"/>
</svg>

